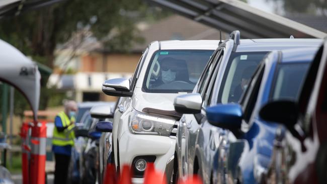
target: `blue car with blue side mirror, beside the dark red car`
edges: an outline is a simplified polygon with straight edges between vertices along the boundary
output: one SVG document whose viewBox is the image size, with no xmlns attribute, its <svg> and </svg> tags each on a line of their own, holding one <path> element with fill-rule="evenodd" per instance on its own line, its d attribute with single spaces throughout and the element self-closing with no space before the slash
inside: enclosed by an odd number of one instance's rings
<svg viewBox="0 0 327 184">
<path fill-rule="evenodd" d="M 318 47 L 272 51 L 252 76 L 239 103 L 207 108 L 210 124 L 221 128 L 213 183 L 263 183 L 278 124 L 263 121 L 269 101 L 296 100 Z M 278 114 L 276 114 L 278 116 Z"/>
</svg>

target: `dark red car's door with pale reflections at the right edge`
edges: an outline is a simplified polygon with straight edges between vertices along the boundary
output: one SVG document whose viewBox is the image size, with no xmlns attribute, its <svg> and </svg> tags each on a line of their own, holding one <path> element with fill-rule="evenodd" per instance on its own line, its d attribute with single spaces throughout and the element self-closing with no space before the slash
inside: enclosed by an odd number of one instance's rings
<svg viewBox="0 0 327 184">
<path fill-rule="evenodd" d="M 326 46 L 319 49 L 303 85 L 296 129 L 288 127 L 285 134 L 282 158 L 290 183 L 326 182 Z"/>
</svg>

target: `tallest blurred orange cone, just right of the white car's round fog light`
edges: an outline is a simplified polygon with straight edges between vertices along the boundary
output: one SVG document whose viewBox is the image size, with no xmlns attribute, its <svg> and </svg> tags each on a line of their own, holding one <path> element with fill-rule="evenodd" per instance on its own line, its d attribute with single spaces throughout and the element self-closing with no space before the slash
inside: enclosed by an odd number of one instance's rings
<svg viewBox="0 0 327 184">
<path fill-rule="evenodd" d="M 156 171 L 153 163 L 147 163 L 144 172 L 143 184 L 153 184 L 153 183 L 167 184 L 166 175 Z"/>
</svg>

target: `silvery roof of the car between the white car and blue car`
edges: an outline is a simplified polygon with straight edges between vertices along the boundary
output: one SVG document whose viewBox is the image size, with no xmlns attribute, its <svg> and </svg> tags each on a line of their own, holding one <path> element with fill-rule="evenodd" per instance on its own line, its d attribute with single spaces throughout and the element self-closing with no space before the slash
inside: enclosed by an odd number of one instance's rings
<svg viewBox="0 0 327 184">
<path fill-rule="evenodd" d="M 241 39 L 237 45 L 236 52 L 255 52 L 255 51 L 272 51 L 285 50 L 300 47 L 318 47 L 323 42 L 322 39 Z"/>
</svg>

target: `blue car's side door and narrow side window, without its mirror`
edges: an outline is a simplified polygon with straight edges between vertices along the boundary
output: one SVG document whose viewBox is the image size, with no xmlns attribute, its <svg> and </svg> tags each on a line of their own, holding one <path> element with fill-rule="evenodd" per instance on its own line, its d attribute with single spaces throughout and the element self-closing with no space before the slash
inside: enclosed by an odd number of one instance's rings
<svg viewBox="0 0 327 184">
<path fill-rule="evenodd" d="M 265 64 L 262 63 L 258 67 L 249 84 L 249 87 L 241 98 L 240 105 L 242 106 L 243 111 L 241 129 L 235 132 L 227 130 L 227 133 L 224 137 L 227 144 L 225 148 L 220 148 L 225 149 L 225 151 L 222 151 L 226 154 L 225 158 L 227 160 L 225 173 L 227 178 L 225 179 L 230 183 L 242 183 L 244 179 L 247 179 L 250 176 L 251 170 L 246 170 L 246 172 L 244 172 L 245 168 L 243 168 L 243 162 L 247 162 L 248 160 L 246 157 L 242 156 L 244 155 L 244 152 L 248 152 L 253 145 L 253 140 L 251 139 L 252 132 L 249 131 L 249 124 L 251 122 L 257 102 L 264 71 Z"/>
</svg>

